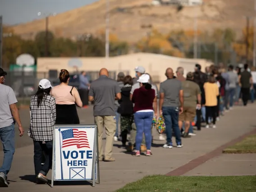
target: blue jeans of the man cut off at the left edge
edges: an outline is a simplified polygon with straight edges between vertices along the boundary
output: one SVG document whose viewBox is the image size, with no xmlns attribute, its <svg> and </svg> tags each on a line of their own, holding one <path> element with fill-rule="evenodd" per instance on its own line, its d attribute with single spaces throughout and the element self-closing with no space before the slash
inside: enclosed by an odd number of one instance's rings
<svg viewBox="0 0 256 192">
<path fill-rule="evenodd" d="M 7 175 L 11 169 L 15 152 L 14 123 L 8 127 L 0 128 L 0 139 L 4 147 L 4 160 L 2 167 L 0 167 L 0 172 Z"/>
</svg>

